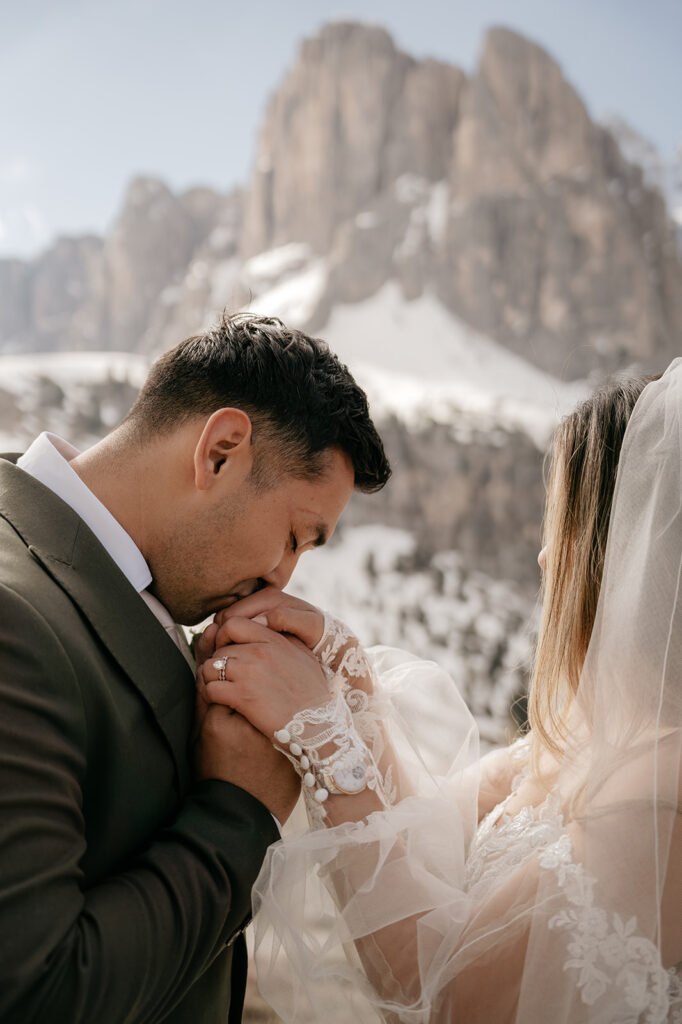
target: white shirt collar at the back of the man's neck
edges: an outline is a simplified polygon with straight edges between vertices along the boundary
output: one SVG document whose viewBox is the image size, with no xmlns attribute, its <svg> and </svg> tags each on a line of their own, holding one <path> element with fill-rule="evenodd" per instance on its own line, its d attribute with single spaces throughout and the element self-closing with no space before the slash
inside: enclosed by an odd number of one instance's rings
<svg viewBox="0 0 682 1024">
<path fill-rule="evenodd" d="M 78 450 L 61 437 L 42 433 L 16 465 L 71 506 L 140 593 L 152 583 L 150 566 L 132 537 L 69 465 L 77 455 Z"/>
</svg>

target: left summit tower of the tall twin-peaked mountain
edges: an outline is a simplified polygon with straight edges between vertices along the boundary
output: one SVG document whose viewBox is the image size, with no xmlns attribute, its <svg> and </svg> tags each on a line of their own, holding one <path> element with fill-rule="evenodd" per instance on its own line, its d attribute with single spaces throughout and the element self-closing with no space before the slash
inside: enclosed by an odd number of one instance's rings
<svg viewBox="0 0 682 1024">
<path fill-rule="evenodd" d="M 444 176 L 463 80 L 377 27 L 337 23 L 306 40 L 260 133 L 244 255 L 290 241 L 328 252 L 400 174 Z"/>
</svg>

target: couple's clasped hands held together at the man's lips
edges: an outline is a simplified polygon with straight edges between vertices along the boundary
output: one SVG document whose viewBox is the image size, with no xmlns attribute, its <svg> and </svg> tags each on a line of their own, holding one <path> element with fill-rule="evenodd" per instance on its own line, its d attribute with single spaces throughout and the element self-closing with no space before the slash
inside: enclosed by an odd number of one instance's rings
<svg viewBox="0 0 682 1024">
<path fill-rule="evenodd" d="M 324 627 L 313 605 L 267 587 L 218 612 L 195 642 L 197 777 L 239 785 L 281 822 L 300 781 L 272 736 L 298 711 L 329 698 L 312 653 Z M 213 666 L 220 658 L 224 680 Z"/>
</svg>

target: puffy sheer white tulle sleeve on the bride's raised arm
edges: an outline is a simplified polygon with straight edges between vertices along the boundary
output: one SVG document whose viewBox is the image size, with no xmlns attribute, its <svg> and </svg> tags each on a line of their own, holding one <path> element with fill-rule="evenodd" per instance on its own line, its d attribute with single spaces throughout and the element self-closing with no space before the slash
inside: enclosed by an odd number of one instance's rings
<svg viewBox="0 0 682 1024">
<path fill-rule="evenodd" d="M 475 722 L 433 663 L 366 655 L 349 637 L 327 654 L 382 780 L 393 774 L 366 818 L 326 827 L 312 808 L 312 830 L 270 848 L 254 889 L 259 987 L 286 1022 L 427 1021 L 469 918 Z"/>
</svg>

